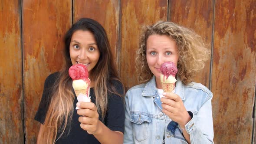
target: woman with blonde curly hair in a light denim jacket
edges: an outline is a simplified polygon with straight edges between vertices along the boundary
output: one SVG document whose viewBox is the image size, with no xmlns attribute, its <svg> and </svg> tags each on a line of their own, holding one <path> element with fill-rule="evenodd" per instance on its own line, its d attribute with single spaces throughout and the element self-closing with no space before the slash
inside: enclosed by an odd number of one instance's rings
<svg viewBox="0 0 256 144">
<path fill-rule="evenodd" d="M 146 26 L 136 57 L 142 84 L 125 95 L 125 144 L 212 144 L 213 94 L 193 82 L 210 50 L 191 29 L 172 22 Z M 164 92 L 160 67 L 178 69 L 173 92 Z"/>
</svg>

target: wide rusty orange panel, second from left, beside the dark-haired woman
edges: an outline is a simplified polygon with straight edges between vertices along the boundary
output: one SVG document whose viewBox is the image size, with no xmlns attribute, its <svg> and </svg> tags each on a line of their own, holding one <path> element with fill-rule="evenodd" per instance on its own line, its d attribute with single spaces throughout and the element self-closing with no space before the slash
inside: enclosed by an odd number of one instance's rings
<svg viewBox="0 0 256 144">
<path fill-rule="evenodd" d="M 35 144 L 34 120 L 46 77 L 64 63 L 62 39 L 72 23 L 71 0 L 23 0 L 24 102 L 26 143 Z"/>
</svg>

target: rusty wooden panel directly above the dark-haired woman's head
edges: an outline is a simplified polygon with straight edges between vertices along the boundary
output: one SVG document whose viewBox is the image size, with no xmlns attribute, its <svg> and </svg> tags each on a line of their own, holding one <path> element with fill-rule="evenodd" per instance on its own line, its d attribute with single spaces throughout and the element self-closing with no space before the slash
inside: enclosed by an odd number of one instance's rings
<svg viewBox="0 0 256 144">
<path fill-rule="evenodd" d="M 106 30 L 116 65 L 118 66 L 119 0 L 74 0 L 74 23 L 82 17 L 98 21 Z"/>
</svg>

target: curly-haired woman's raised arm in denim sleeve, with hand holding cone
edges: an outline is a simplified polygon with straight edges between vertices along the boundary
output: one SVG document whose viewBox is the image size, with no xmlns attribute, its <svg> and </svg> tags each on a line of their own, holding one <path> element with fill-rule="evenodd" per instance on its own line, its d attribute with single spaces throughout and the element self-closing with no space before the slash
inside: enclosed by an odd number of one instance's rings
<svg viewBox="0 0 256 144">
<path fill-rule="evenodd" d="M 163 95 L 167 97 L 161 98 L 163 112 L 181 126 L 182 133 L 188 143 L 213 144 L 212 96 L 208 97 L 197 115 L 193 114 L 191 119 L 178 95 L 168 92 L 163 93 Z"/>
</svg>

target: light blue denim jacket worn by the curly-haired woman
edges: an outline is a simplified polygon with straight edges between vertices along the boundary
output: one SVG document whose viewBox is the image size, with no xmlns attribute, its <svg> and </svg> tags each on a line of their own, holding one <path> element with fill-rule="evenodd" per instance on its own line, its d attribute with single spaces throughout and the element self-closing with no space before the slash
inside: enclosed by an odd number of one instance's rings
<svg viewBox="0 0 256 144">
<path fill-rule="evenodd" d="M 213 144 L 213 94 L 205 86 L 191 82 L 184 85 L 177 78 L 175 93 L 179 95 L 193 118 L 185 125 L 191 144 Z M 171 119 L 161 111 L 155 77 L 136 85 L 125 94 L 125 144 L 187 144 L 179 128 L 167 131 Z"/>
</svg>

